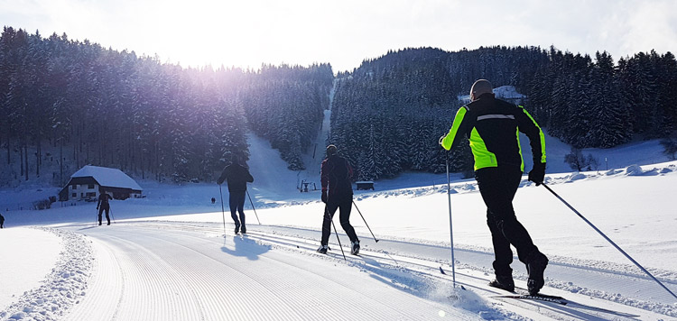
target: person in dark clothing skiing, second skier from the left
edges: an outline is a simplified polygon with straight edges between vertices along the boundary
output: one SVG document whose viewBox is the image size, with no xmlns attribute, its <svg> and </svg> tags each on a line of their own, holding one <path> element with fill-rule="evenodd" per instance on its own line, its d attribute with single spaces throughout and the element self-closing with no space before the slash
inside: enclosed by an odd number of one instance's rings
<svg viewBox="0 0 677 321">
<path fill-rule="evenodd" d="M 224 180 L 228 183 L 228 206 L 230 207 L 230 216 L 235 222 L 235 233 L 242 232 L 246 234 L 245 225 L 245 197 L 246 197 L 246 183 L 253 183 L 254 177 L 246 168 L 245 161 L 239 156 L 234 156 L 230 165 L 226 166 L 221 172 L 217 183 L 221 185 Z M 239 212 L 240 218 L 237 219 L 236 212 Z"/>
</svg>

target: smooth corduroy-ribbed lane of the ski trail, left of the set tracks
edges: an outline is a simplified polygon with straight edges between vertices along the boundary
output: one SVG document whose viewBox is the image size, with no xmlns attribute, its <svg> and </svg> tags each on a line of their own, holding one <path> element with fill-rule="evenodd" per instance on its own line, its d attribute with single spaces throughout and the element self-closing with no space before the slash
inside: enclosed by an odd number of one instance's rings
<svg viewBox="0 0 677 321">
<path fill-rule="evenodd" d="M 89 230 L 96 272 L 67 319 L 426 320 L 450 310 L 355 267 L 217 235 L 153 224 Z"/>
</svg>

